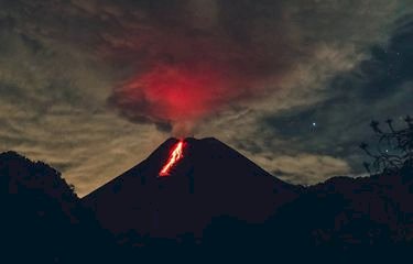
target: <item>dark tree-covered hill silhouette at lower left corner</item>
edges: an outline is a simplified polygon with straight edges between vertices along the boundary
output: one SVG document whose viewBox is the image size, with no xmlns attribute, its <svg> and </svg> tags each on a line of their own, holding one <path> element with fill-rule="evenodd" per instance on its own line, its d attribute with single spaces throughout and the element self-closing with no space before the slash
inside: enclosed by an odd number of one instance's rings
<svg viewBox="0 0 413 264">
<path fill-rule="evenodd" d="M 0 187 L 2 260 L 83 262 L 110 244 L 73 188 L 48 165 L 2 153 Z"/>
</svg>

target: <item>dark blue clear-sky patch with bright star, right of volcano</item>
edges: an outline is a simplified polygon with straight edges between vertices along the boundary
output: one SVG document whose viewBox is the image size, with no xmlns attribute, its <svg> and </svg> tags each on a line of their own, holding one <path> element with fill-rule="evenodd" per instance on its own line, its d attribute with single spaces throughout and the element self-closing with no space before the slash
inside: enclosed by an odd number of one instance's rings
<svg viewBox="0 0 413 264">
<path fill-rule="evenodd" d="M 370 121 L 392 118 L 401 125 L 400 118 L 413 111 L 411 25 L 401 25 L 387 45 L 373 45 L 368 59 L 335 76 L 326 90 L 329 99 L 264 117 L 262 127 L 291 141 L 297 152 L 339 156 L 349 162 L 354 174 L 363 173 L 365 156 L 358 144 L 373 143 Z"/>
</svg>

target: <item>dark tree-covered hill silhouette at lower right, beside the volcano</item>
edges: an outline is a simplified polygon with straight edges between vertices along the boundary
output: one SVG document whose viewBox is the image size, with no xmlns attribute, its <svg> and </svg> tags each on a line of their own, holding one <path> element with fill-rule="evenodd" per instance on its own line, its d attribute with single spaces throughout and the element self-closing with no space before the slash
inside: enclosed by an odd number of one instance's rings
<svg viewBox="0 0 413 264">
<path fill-rule="evenodd" d="M 307 187 L 265 230 L 284 246 L 293 238 L 290 245 L 339 255 L 341 263 L 359 257 L 394 261 L 413 250 L 412 194 L 412 167 L 394 175 L 334 177 Z"/>
</svg>

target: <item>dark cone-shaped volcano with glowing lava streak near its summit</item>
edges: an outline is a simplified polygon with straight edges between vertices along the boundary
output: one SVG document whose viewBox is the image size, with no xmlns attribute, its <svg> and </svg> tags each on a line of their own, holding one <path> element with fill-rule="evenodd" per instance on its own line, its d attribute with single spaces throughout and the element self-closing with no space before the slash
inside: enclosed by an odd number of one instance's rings
<svg viewBox="0 0 413 264">
<path fill-rule="evenodd" d="M 260 224 L 302 190 L 213 138 L 185 139 L 181 158 L 160 177 L 180 142 L 166 140 L 145 161 L 83 198 L 104 229 L 119 238 L 203 238 L 222 217 Z"/>
</svg>

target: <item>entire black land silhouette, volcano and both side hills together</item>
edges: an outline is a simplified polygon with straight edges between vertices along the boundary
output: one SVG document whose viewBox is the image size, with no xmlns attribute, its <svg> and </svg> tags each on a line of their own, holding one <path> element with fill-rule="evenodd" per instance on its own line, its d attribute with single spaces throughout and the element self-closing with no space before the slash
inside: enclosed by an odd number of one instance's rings
<svg viewBox="0 0 413 264">
<path fill-rule="evenodd" d="M 1 154 L 4 252 L 15 262 L 46 263 L 98 256 L 119 263 L 348 263 L 394 261 L 413 249 L 409 164 L 392 175 L 303 187 L 273 177 L 216 139 L 185 139 L 184 157 L 170 176 L 159 177 L 176 142 L 165 141 L 83 199 L 50 166 Z"/>
</svg>

